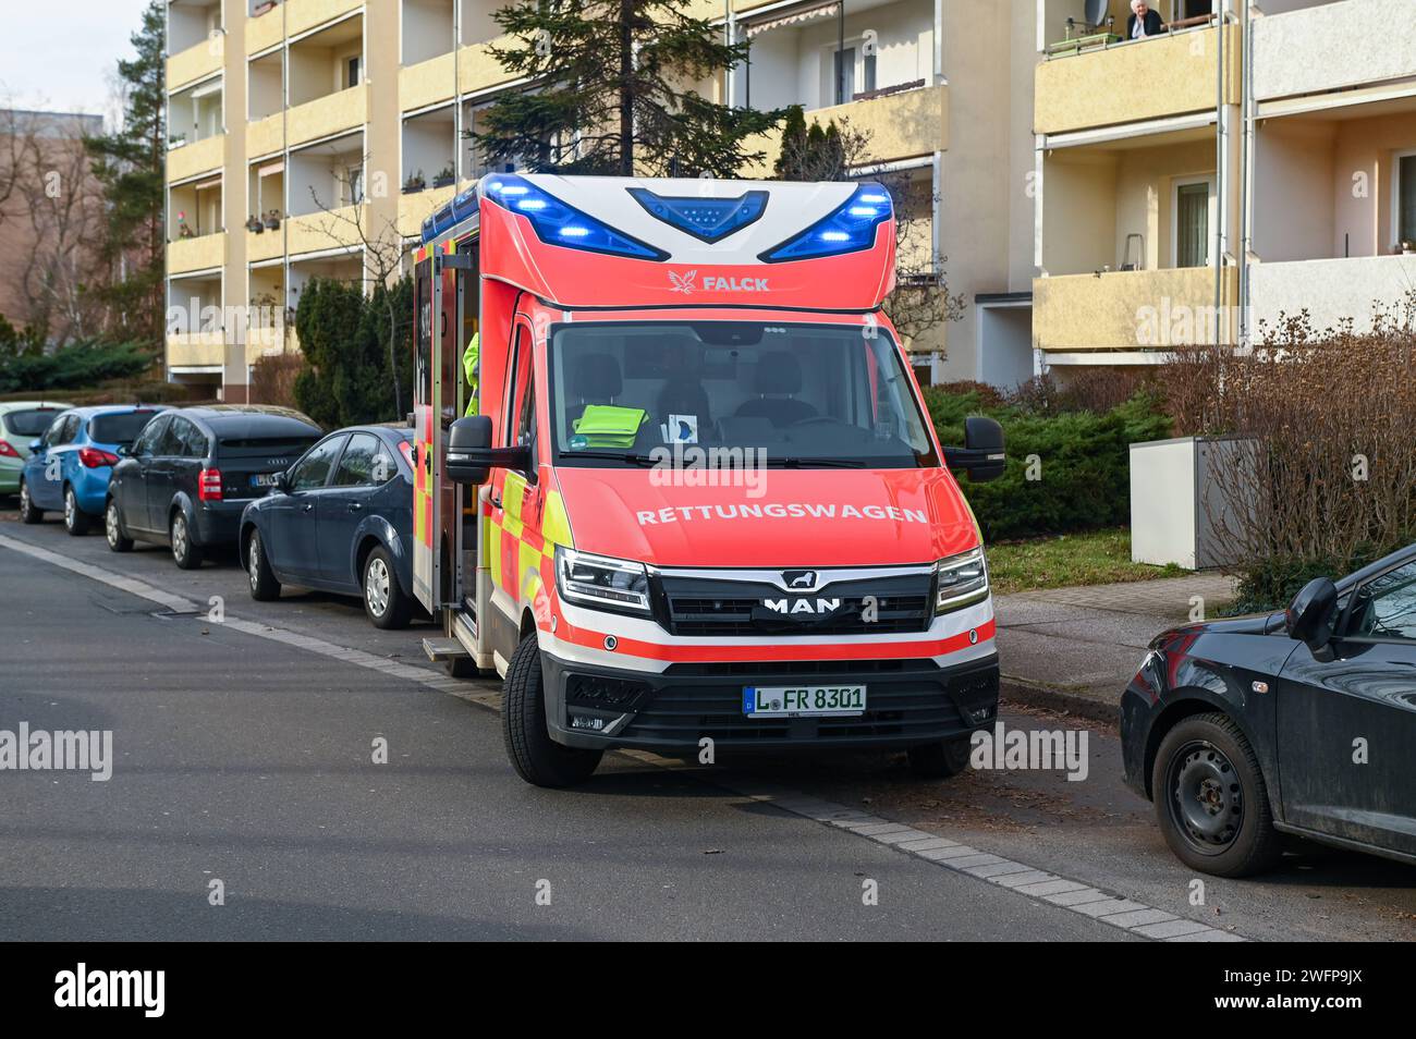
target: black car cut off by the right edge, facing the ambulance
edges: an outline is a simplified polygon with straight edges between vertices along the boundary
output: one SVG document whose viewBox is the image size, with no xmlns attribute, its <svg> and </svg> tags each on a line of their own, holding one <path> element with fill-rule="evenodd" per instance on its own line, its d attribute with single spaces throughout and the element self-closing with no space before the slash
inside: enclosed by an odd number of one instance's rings
<svg viewBox="0 0 1416 1039">
<path fill-rule="evenodd" d="M 1280 832 L 1416 863 L 1416 545 L 1286 612 L 1157 637 L 1121 743 L 1194 869 L 1260 872 Z"/>
</svg>

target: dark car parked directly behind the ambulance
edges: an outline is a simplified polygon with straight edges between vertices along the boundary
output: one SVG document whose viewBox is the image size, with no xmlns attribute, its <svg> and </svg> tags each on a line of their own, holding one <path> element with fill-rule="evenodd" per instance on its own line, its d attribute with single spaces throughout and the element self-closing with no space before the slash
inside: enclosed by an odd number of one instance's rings
<svg viewBox="0 0 1416 1039">
<path fill-rule="evenodd" d="M 255 599 L 282 585 L 362 596 L 375 627 L 413 610 L 413 430 L 351 426 L 310 447 L 241 517 Z"/>
</svg>

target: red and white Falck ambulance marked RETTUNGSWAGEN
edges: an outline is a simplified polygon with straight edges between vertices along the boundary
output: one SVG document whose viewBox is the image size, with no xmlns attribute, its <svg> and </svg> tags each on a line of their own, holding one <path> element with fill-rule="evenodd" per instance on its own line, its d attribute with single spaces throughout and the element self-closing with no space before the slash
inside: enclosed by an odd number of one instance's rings
<svg viewBox="0 0 1416 1039">
<path fill-rule="evenodd" d="M 976 418 L 937 443 L 881 310 L 893 283 L 872 183 L 498 173 L 425 222 L 425 650 L 503 677 L 528 783 L 581 783 L 616 747 L 964 767 L 998 658 L 953 471 L 997 477 L 1003 433 Z"/>
</svg>

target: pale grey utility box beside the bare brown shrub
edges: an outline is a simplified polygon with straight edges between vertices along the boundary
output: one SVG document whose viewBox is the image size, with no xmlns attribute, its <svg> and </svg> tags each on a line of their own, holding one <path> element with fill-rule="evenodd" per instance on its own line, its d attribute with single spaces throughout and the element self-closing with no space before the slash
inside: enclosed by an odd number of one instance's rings
<svg viewBox="0 0 1416 1039">
<path fill-rule="evenodd" d="M 1232 508 L 1218 467 L 1253 463 L 1253 440 L 1182 436 L 1131 444 L 1131 561 L 1204 570 L 1232 563 L 1239 548 L 1223 527 Z"/>
</svg>

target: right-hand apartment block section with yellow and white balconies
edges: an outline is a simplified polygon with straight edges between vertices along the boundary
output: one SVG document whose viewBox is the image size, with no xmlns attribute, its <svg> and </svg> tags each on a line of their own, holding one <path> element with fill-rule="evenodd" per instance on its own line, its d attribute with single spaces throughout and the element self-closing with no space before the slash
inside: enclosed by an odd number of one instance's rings
<svg viewBox="0 0 1416 1039">
<path fill-rule="evenodd" d="M 1146 365 L 1307 311 L 1369 327 L 1416 263 L 1416 24 L 1389 0 L 1038 0 L 1034 343 Z M 1403 251 L 1402 242 L 1409 251 Z"/>
</svg>

